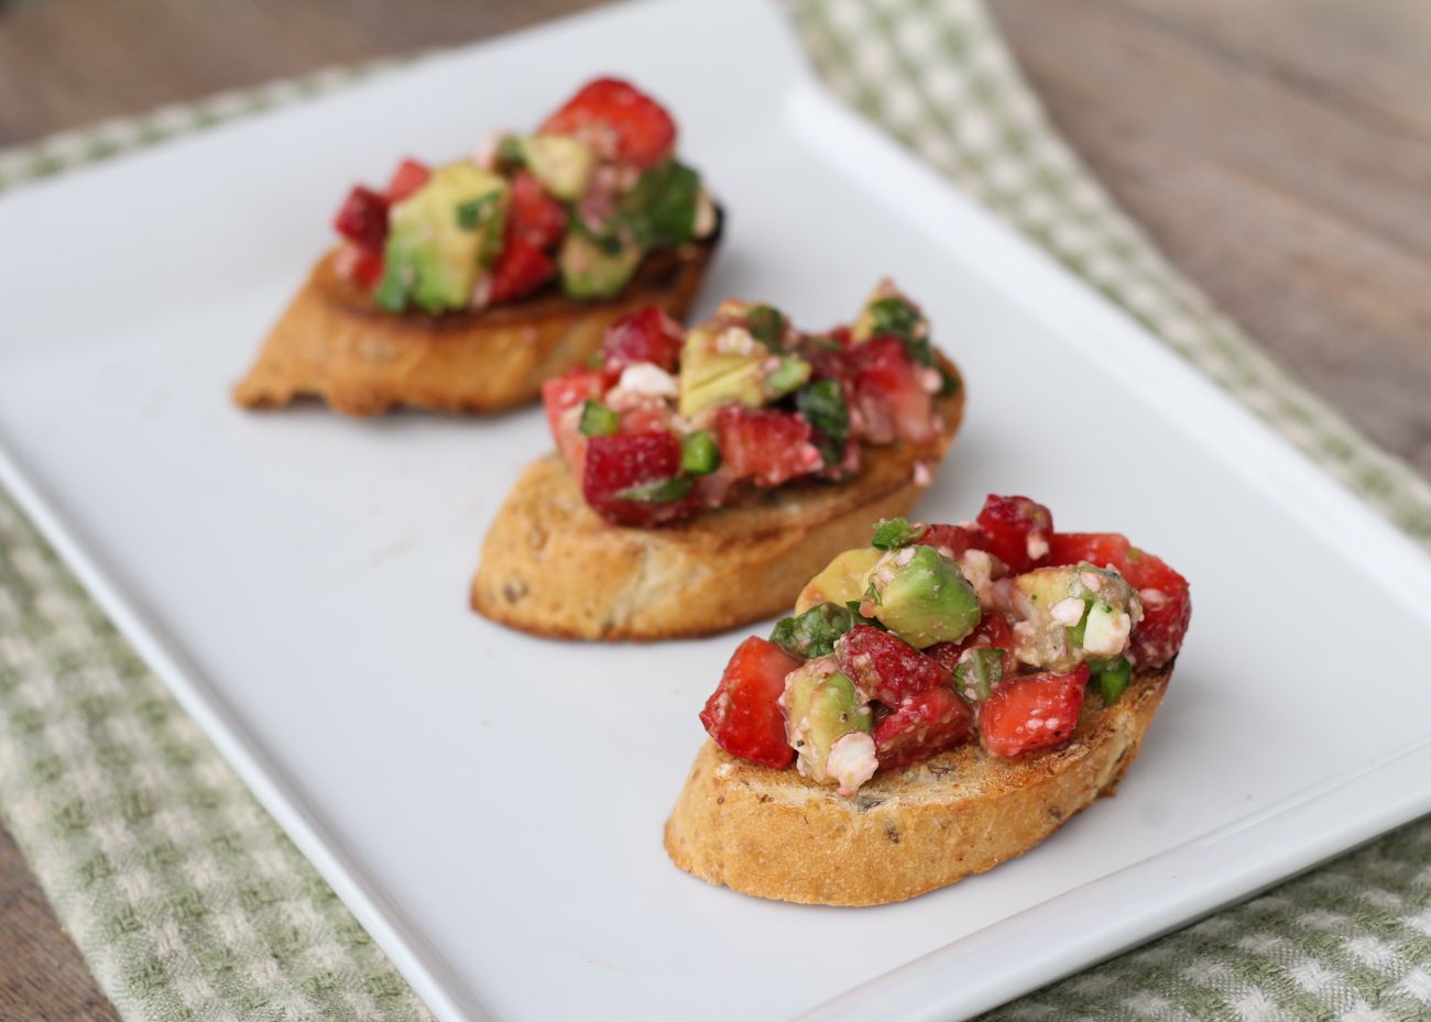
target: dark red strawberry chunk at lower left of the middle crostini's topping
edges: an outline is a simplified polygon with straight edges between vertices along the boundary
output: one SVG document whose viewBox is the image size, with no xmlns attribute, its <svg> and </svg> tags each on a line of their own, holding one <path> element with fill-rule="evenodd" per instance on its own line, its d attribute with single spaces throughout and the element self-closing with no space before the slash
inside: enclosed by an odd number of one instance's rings
<svg viewBox="0 0 1431 1022">
<path fill-rule="evenodd" d="M 691 496 L 633 500 L 621 493 L 674 479 L 681 472 L 681 442 L 674 433 L 617 433 L 587 437 L 581 492 L 592 510 L 615 525 L 651 526 L 695 509 Z"/>
</svg>

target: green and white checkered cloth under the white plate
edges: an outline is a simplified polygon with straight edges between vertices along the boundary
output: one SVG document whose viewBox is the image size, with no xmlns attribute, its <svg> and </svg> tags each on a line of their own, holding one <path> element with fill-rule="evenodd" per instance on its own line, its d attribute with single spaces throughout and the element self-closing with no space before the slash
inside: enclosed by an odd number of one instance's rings
<svg viewBox="0 0 1431 1022">
<path fill-rule="evenodd" d="M 1431 487 L 1158 254 L 1045 120 L 977 0 L 794 0 L 830 87 L 1431 546 Z M 0 153 L 0 190 L 342 87 L 216 97 Z M 0 815 L 120 1013 L 431 1016 L 54 553 L 0 496 Z M 1431 1016 L 1431 822 L 1006 1005 L 1015 1019 Z"/>
</svg>

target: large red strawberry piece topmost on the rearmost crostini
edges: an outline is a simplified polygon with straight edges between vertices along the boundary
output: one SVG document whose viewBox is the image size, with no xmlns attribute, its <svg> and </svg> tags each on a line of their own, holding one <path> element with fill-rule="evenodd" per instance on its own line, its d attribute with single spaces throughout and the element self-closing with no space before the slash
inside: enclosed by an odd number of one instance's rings
<svg viewBox="0 0 1431 1022">
<path fill-rule="evenodd" d="M 660 103 L 620 79 L 597 79 L 567 100 L 541 126 L 547 134 L 574 134 L 643 170 L 675 147 L 675 121 Z"/>
</svg>

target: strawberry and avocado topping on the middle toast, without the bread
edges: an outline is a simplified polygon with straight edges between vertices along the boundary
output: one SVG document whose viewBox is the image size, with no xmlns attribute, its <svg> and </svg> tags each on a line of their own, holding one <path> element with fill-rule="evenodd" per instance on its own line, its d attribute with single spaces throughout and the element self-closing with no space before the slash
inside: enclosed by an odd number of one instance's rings
<svg viewBox="0 0 1431 1022">
<path fill-rule="evenodd" d="M 853 327 L 800 333 L 724 302 L 683 332 L 658 309 L 615 322 L 595 364 L 550 380 L 557 449 L 607 520 L 657 526 L 791 482 L 849 479 L 861 445 L 929 445 L 939 369 L 919 306 L 881 283 Z"/>
</svg>

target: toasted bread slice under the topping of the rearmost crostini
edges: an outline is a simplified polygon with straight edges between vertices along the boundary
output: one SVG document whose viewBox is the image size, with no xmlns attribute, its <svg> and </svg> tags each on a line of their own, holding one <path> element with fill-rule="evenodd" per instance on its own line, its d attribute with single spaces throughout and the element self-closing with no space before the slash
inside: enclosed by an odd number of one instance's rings
<svg viewBox="0 0 1431 1022">
<path fill-rule="evenodd" d="M 602 302 L 542 292 L 474 313 L 395 316 L 343 280 L 336 250 L 263 342 L 233 390 L 245 407 L 322 397 L 336 412 L 371 416 L 398 405 L 436 412 L 498 412 L 534 400 L 544 380 L 601 347 L 614 320 L 655 304 L 681 319 L 695 299 L 717 237 L 654 252 L 625 290 Z"/>
</svg>

